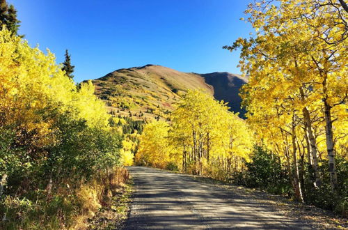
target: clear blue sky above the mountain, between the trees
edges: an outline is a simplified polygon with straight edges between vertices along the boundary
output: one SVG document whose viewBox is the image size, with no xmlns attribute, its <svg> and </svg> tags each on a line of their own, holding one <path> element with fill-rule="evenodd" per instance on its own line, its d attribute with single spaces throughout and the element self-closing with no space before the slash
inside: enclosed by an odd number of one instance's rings
<svg viewBox="0 0 348 230">
<path fill-rule="evenodd" d="M 19 33 L 64 59 L 76 82 L 119 68 L 158 64 L 183 72 L 239 73 L 239 54 L 222 49 L 251 26 L 239 21 L 251 0 L 8 0 Z"/>
</svg>

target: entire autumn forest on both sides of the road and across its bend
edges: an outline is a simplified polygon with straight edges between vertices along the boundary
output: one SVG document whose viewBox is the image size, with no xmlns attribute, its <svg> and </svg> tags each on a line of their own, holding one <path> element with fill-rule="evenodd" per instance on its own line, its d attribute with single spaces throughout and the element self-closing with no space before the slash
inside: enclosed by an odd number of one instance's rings
<svg viewBox="0 0 348 230">
<path fill-rule="evenodd" d="M 313 204 L 347 217 L 348 6 L 255 1 L 241 20 L 246 118 L 203 90 L 180 92 L 168 118 L 116 116 L 18 34 L 0 1 L 0 229 L 86 229 L 129 175 L 180 171 Z M 227 52 L 226 51 L 226 52 Z M 139 117 L 141 115 L 139 114 Z"/>
</svg>

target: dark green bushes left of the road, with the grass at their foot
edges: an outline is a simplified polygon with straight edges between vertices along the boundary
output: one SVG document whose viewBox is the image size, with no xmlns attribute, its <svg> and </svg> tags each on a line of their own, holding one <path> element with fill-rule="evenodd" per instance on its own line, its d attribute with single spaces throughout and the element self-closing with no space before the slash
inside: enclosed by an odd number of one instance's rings
<svg viewBox="0 0 348 230">
<path fill-rule="evenodd" d="M 22 141 L 15 135 L 21 130 L 0 129 L 0 173 L 8 176 L 0 197 L 0 229 L 61 229 L 62 220 L 68 226 L 79 210 L 74 191 L 119 164 L 118 133 L 90 128 L 71 112 L 42 114 L 44 120 L 52 117 L 54 145 L 32 146 L 35 132 Z"/>
</svg>

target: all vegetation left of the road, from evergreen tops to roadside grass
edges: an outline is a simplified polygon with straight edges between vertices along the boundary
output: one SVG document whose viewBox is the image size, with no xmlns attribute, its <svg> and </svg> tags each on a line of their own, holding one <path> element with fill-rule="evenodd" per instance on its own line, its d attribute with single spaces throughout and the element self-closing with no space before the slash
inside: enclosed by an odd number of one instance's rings
<svg viewBox="0 0 348 230">
<path fill-rule="evenodd" d="M 126 140 L 68 52 L 56 64 L 17 35 L 13 6 L 0 13 L 0 229 L 86 229 L 129 179 Z"/>
</svg>

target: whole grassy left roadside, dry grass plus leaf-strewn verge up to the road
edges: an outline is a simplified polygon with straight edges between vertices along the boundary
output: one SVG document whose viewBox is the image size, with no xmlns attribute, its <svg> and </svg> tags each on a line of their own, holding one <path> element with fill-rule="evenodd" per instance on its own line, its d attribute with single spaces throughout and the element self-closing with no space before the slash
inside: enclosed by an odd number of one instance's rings
<svg viewBox="0 0 348 230">
<path fill-rule="evenodd" d="M 129 213 L 132 184 L 127 169 L 116 167 L 76 189 L 57 186 L 49 199 L 42 192 L 35 203 L 7 196 L 0 229 L 118 229 Z"/>
</svg>

